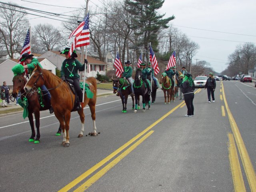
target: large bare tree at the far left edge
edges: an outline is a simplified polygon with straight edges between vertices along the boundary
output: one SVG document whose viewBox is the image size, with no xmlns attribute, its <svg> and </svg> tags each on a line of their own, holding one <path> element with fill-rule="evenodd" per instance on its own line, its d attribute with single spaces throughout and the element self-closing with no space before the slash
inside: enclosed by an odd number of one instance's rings
<svg viewBox="0 0 256 192">
<path fill-rule="evenodd" d="M 26 13 L 17 4 L 1 4 L 0 8 L 0 47 L 6 49 L 10 58 L 21 52 L 29 22 Z"/>
</svg>

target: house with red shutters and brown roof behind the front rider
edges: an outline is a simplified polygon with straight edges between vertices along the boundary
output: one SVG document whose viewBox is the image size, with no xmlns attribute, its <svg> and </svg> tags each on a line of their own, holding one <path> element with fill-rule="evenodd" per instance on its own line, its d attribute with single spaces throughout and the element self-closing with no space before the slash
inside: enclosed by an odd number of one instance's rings
<svg viewBox="0 0 256 192">
<path fill-rule="evenodd" d="M 78 61 L 81 62 L 81 54 L 76 52 Z M 64 54 L 60 54 L 58 51 L 47 51 L 44 54 L 38 56 L 40 58 L 47 58 L 50 62 L 52 62 L 58 70 L 61 70 L 61 66 L 63 61 L 66 59 Z M 85 58 L 85 54 L 84 54 Z M 97 72 L 101 75 L 106 75 L 106 66 L 105 62 L 102 62 L 98 59 L 92 58 L 91 56 L 87 56 L 88 66 L 86 71 L 86 77 L 96 77 Z M 82 62 L 84 63 L 84 62 Z"/>
</svg>

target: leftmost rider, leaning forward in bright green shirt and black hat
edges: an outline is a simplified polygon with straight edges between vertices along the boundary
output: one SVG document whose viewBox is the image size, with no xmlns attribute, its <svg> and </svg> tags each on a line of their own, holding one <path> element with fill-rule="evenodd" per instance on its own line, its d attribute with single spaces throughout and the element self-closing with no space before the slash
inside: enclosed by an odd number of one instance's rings
<svg viewBox="0 0 256 192">
<path fill-rule="evenodd" d="M 24 69 L 28 69 L 28 72 L 31 76 L 32 74 L 32 71 L 34 70 L 35 66 L 34 65 L 38 65 L 42 68 L 41 64 L 39 63 L 39 61 L 33 57 L 34 55 L 32 54 L 28 54 L 28 53 L 24 53 L 22 55 L 22 57 L 20 58 L 20 62 L 24 62 L 26 65 L 24 66 Z M 42 94 L 43 95 L 46 95 L 45 99 L 46 99 L 46 102 L 51 104 L 51 94 L 50 92 L 47 90 L 46 86 L 45 85 L 42 85 L 41 86 L 41 90 L 42 90 Z M 53 113 L 53 108 L 52 106 L 50 106 L 49 108 L 49 111 L 50 113 Z"/>
</svg>

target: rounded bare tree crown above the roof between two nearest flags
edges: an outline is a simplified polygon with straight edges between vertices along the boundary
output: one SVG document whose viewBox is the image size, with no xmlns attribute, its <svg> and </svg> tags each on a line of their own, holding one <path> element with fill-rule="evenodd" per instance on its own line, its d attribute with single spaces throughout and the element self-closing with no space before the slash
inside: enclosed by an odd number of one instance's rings
<svg viewBox="0 0 256 192">
<path fill-rule="evenodd" d="M 34 28 L 40 50 L 53 50 L 64 44 L 60 31 L 51 24 L 38 24 Z"/>
</svg>

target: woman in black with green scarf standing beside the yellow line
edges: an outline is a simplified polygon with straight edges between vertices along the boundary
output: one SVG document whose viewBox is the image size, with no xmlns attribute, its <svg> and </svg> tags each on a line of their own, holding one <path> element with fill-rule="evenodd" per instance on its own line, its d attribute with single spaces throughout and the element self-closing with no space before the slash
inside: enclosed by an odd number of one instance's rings
<svg viewBox="0 0 256 192">
<path fill-rule="evenodd" d="M 185 117 L 194 116 L 194 90 L 195 84 L 190 73 L 185 73 L 184 80 L 182 81 L 182 93 L 184 94 L 184 100 L 188 108 L 188 112 Z"/>
</svg>

